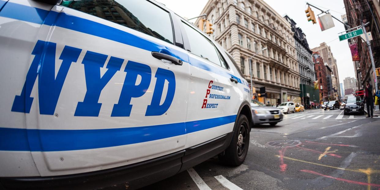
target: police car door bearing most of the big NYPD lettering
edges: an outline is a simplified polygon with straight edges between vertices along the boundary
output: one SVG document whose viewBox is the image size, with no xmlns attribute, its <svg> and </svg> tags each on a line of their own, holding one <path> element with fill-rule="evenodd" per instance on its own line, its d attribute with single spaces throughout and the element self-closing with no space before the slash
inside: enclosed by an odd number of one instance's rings
<svg viewBox="0 0 380 190">
<path fill-rule="evenodd" d="M 30 143 L 40 174 L 183 150 L 189 65 L 174 45 L 182 38 L 171 12 L 146 0 L 63 1 L 52 11 L 48 38 L 36 43 L 44 49 L 32 91 L 39 106 L 27 116 L 27 128 L 38 130 Z"/>
</svg>

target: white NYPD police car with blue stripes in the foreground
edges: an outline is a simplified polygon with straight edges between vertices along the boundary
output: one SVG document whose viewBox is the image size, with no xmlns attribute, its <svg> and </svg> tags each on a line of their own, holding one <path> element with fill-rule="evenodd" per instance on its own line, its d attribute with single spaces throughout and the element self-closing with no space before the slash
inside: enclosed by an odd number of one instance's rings
<svg viewBox="0 0 380 190">
<path fill-rule="evenodd" d="M 0 187 L 139 188 L 252 126 L 230 55 L 152 0 L 0 0 Z"/>
</svg>

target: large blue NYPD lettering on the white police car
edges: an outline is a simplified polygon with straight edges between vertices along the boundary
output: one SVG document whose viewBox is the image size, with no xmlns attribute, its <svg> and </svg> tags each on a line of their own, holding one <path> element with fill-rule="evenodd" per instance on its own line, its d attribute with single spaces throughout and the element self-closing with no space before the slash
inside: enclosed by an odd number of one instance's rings
<svg viewBox="0 0 380 190">
<path fill-rule="evenodd" d="M 82 52 L 82 49 L 65 46 L 59 57 L 59 59 L 62 60 L 62 64 L 60 65 L 57 76 L 55 76 L 56 46 L 56 43 L 41 40 L 37 41 L 32 51 L 32 55 L 35 56 L 28 70 L 21 95 L 15 96 L 11 111 L 30 112 L 33 102 L 33 98 L 30 97 L 30 95 L 38 77 L 38 105 L 40 114 L 54 114 L 71 63 L 77 62 Z M 98 103 L 98 101 L 101 91 L 116 72 L 120 71 L 124 62 L 124 59 L 111 56 L 106 66 L 108 70 L 101 76 L 100 68 L 104 67 L 107 58 L 108 55 L 92 51 L 87 51 L 84 55 L 81 63 L 84 65 L 87 91 L 84 100 L 78 102 L 74 116 L 99 116 L 101 103 Z M 120 93 L 119 102 L 114 105 L 111 117 L 130 116 L 133 106 L 130 104 L 131 98 L 141 97 L 150 86 L 152 70 L 148 65 L 128 61 L 124 72 L 127 74 Z M 136 85 L 138 76 L 140 76 L 141 82 Z M 174 73 L 170 70 L 158 68 L 154 77 L 156 78 L 156 83 L 153 97 L 150 105 L 147 106 L 145 116 L 160 116 L 164 114 L 169 109 L 174 98 L 176 89 Z M 160 104 L 165 81 L 168 81 L 168 92 L 166 93 L 164 102 Z"/>
</svg>

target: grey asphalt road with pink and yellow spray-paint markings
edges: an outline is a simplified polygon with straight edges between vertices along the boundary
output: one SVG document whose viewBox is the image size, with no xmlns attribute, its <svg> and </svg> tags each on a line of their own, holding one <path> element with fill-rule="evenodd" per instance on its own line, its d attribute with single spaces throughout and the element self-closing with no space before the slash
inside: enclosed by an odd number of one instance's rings
<svg viewBox="0 0 380 190">
<path fill-rule="evenodd" d="M 380 190 L 380 117 L 308 110 L 250 133 L 238 167 L 214 157 L 143 189 Z M 276 141 L 276 142 L 271 142 Z"/>
</svg>

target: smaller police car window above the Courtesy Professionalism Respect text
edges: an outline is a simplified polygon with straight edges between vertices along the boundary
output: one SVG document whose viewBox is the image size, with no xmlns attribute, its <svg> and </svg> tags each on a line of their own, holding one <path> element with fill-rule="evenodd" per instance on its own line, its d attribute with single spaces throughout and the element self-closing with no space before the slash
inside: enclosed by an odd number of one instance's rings
<svg viewBox="0 0 380 190">
<path fill-rule="evenodd" d="M 222 67 L 220 57 L 216 51 L 214 44 L 194 28 L 190 27 L 184 22 L 182 22 L 182 24 L 184 25 L 185 31 L 187 33 L 191 52 Z"/>
</svg>

